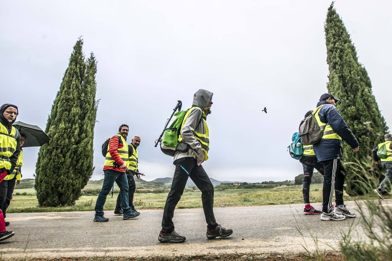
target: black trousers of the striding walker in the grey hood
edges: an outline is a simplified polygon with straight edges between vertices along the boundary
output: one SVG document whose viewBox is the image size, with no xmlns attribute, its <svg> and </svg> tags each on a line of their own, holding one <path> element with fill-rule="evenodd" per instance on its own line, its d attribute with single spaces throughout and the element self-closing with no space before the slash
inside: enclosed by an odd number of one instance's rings
<svg viewBox="0 0 392 261">
<path fill-rule="evenodd" d="M 174 161 L 173 164 L 176 165 L 176 170 L 174 171 L 172 186 L 167 195 L 165 209 L 163 210 L 162 232 L 171 233 L 174 230 L 172 221 L 174 209 L 178 201 L 180 201 L 188 180 L 188 174 L 182 167 L 186 169 L 191 180 L 196 184 L 198 189 L 200 189 L 207 228 L 214 229 L 218 226 L 215 220 L 214 211 L 212 210 L 214 206 L 214 186 L 207 173 L 205 173 L 202 166 L 197 166 L 196 160 L 193 157 L 180 158 Z"/>
</svg>

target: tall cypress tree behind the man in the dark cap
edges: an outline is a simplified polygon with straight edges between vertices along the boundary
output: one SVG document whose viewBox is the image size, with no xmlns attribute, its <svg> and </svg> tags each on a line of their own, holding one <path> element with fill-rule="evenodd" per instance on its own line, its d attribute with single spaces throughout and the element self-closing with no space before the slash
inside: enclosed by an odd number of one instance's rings
<svg viewBox="0 0 392 261">
<path fill-rule="evenodd" d="M 358 62 L 356 49 L 334 8 L 334 2 L 328 8 L 324 29 L 329 66 L 328 92 L 341 99 L 336 106 L 360 146 L 359 152 L 353 152 L 350 146 L 343 142 L 343 159 L 345 162 L 361 161 L 370 155 L 374 146 L 383 141 L 388 127 L 372 94 L 372 84 L 367 71 Z M 357 174 L 354 169 L 347 167 L 348 194 L 361 193 L 356 182 Z"/>
</svg>

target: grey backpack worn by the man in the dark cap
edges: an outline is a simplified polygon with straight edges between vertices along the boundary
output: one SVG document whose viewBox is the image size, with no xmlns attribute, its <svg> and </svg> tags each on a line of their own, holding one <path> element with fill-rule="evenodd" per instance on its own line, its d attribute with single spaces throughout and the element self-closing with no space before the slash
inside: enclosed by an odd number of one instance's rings
<svg viewBox="0 0 392 261">
<path fill-rule="evenodd" d="M 312 114 L 303 119 L 299 124 L 299 137 L 301 138 L 303 145 L 316 144 L 323 137 L 324 126 L 320 127 L 317 123 L 316 116 L 314 116 L 323 105 L 318 106 Z"/>
</svg>

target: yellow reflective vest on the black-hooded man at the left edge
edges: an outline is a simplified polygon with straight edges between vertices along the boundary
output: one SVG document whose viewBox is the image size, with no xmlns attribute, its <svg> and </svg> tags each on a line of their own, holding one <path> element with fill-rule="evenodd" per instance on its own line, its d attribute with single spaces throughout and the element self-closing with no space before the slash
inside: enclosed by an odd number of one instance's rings
<svg viewBox="0 0 392 261">
<path fill-rule="evenodd" d="M 16 151 L 16 128 L 12 126 L 11 133 L 0 123 L 0 169 L 11 169 L 11 157 Z"/>
</svg>

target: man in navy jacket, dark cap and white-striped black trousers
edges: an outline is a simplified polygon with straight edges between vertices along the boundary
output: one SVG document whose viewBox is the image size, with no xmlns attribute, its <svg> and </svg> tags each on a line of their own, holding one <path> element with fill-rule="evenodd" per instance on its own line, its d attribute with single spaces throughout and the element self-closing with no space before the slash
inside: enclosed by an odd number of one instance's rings
<svg viewBox="0 0 392 261">
<path fill-rule="evenodd" d="M 336 109 L 338 101 L 340 100 L 332 94 L 321 95 L 315 113 L 319 126 L 324 128 L 323 137 L 313 145 L 314 153 L 324 167 L 321 220 L 344 220 L 346 217 L 356 217 L 356 214 L 349 211 L 343 202 L 343 184 L 347 173 L 341 162 L 343 159 L 341 140 L 345 140 L 354 152 L 359 151 L 359 143 Z M 334 189 L 336 205 L 333 209 Z"/>
</svg>

